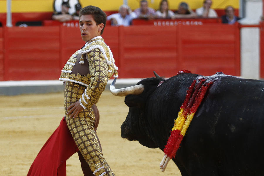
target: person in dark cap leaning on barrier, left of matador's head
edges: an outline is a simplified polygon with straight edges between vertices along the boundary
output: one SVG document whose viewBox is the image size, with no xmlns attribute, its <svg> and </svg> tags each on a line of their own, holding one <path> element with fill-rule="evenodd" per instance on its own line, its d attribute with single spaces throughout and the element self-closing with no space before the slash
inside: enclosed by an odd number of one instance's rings
<svg viewBox="0 0 264 176">
<path fill-rule="evenodd" d="M 51 18 L 60 22 L 73 20 L 73 17 L 68 13 L 70 8 L 69 2 L 62 2 L 61 12 L 53 12 Z"/>
</svg>

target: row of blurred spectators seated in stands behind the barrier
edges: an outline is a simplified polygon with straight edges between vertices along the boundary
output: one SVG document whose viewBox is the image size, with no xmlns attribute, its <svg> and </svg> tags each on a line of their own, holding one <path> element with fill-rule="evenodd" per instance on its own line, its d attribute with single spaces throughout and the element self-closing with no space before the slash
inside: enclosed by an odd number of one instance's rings
<svg viewBox="0 0 264 176">
<path fill-rule="evenodd" d="M 181 2 L 178 6 L 177 11 L 173 12 L 169 8 L 169 3 L 167 0 L 161 0 L 160 6 L 157 11 L 148 6 L 147 0 L 140 1 L 140 7 L 132 11 L 129 6 L 123 4 L 119 7 L 118 13 L 113 13 L 107 16 L 107 20 L 111 21 L 112 26 L 129 26 L 132 24 L 132 20 L 135 18 L 141 19 L 158 19 L 158 18 L 218 18 L 218 15 L 214 9 L 211 8 L 212 0 L 204 0 L 203 6 L 193 11 L 189 8 L 187 2 Z M 61 12 L 54 12 L 52 15 L 53 20 L 58 20 L 61 22 L 70 20 L 79 20 L 78 12 L 82 8 L 81 4 L 76 4 L 76 13 L 69 14 L 68 10 L 70 8 L 69 2 L 63 1 Z M 225 9 L 225 15 L 221 17 L 222 23 L 233 24 L 241 18 L 234 15 L 234 8 L 232 6 L 227 6 Z"/>
</svg>

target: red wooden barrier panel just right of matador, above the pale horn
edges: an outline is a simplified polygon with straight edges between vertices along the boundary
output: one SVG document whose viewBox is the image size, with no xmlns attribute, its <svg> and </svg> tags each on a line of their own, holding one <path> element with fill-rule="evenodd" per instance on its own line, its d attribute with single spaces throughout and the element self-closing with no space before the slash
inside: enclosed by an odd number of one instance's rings
<svg viewBox="0 0 264 176">
<path fill-rule="evenodd" d="M 152 77 L 153 71 L 170 77 L 177 73 L 177 28 L 175 26 L 120 27 L 119 67 L 122 78 Z"/>
</svg>

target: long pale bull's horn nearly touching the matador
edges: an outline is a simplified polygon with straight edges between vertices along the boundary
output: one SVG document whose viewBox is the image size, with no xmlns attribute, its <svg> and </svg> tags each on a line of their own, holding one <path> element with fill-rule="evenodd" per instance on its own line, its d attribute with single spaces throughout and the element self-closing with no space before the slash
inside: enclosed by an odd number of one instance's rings
<svg viewBox="0 0 264 176">
<path fill-rule="evenodd" d="M 133 94 L 133 95 L 138 95 L 141 94 L 144 91 L 144 86 L 142 84 L 131 86 L 131 87 L 125 87 L 121 89 L 116 89 L 115 88 L 116 84 L 116 78 L 112 82 L 110 86 L 110 91 L 112 92 L 113 95 L 123 97 L 128 94 Z"/>
</svg>

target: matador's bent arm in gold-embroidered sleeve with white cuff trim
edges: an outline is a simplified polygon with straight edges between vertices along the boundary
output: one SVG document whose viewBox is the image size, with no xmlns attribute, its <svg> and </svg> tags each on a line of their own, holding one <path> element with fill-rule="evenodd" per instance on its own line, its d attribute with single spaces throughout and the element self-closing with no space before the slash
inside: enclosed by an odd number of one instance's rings
<svg viewBox="0 0 264 176">
<path fill-rule="evenodd" d="M 103 53 L 99 49 L 93 49 L 87 53 L 87 58 L 91 82 L 79 99 L 84 109 L 91 108 L 97 103 L 108 81 L 108 66 Z"/>
</svg>

